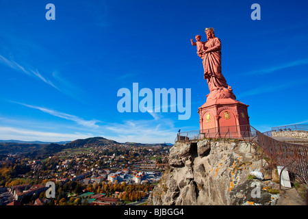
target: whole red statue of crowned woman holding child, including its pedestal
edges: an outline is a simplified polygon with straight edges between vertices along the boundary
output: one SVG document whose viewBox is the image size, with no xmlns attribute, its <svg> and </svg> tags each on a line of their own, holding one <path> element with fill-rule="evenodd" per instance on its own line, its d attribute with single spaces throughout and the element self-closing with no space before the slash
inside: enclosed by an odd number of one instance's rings
<svg viewBox="0 0 308 219">
<path fill-rule="evenodd" d="M 207 80 L 209 94 L 207 101 L 198 108 L 200 127 L 203 129 L 219 127 L 231 128 L 234 132 L 240 125 L 249 125 L 248 105 L 237 101 L 221 70 L 221 42 L 214 34 L 214 28 L 205 29 L 207 41 L 198 41 L 197 54 L 203 59 L 204 79 Z M 192 39 L 191 39 L 192 41 Z M 192 41 L 192 45 L 195 43 Z M 230 128 L 228 128 L 230 131 Z M 231 130 L 231 131 L 232 131 Z M 221 131 L 221 130 L 220 130 Z"/>
</svg>

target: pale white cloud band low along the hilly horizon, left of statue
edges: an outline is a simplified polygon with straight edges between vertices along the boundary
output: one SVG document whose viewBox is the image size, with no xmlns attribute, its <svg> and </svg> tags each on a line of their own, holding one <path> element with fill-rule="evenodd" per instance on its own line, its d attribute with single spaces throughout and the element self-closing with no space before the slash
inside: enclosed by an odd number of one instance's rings
<svg viewBox="0 0 308 219">
<path fill-rule="evenodd" d="M 182 128 L 185 129 L 185 127 Z M 152 119 L 104 123 L 94 129 L 77 125 L 61 125 L 61 123 L 55 121 L 49 123 L 39 120 L 23 120 L 23 118 L 0 117 L 1 140 L 57 142 L 101 136 L 117 142 L 173 143 L 178 129 L 174 127 L 173 121 L 168 118 L 163 118 L 160 121 Z"/>
</svg>

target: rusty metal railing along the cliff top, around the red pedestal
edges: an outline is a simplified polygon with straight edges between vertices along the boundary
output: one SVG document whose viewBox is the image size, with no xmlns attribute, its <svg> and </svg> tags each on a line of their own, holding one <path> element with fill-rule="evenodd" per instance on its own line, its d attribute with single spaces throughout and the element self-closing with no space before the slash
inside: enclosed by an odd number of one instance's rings
<svg viewBox="0 0 308 219">
<path fill-rule="evenodd" d="M 299 127 L 296 128 L 298 130 Z M 270 163 L 268 163 L 269 166 L 272 166 L 272 164 L 283 166 L 305 183 L 305 185 L 308 185 L 308 147 L 275 140 L 271 138 L 271 132 L 261 133 L 250 125 L 219 127 L 180 132 L 177 134 L 175 142 L 196 141 L 208 138 L 228 138 L 244 140 L 250 142 L 251 145 L 257 144 L 262 149 L 261 158 L 267 155 L 271 159 Z"/>
</svg>

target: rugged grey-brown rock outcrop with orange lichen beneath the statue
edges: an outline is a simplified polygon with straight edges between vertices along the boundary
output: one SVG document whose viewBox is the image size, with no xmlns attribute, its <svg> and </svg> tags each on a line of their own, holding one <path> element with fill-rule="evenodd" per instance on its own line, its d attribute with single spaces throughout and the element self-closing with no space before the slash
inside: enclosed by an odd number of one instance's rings
<svg viewBox="0 0 308 219">
<path fill-rule="evenodd" d="M 170 169 L 148 205 L 273 205 L 279 195 L 270 194 L 268 188 L 279 184 L 253 179 L 253 170 L 266 171 L 254 153 L 246 142 L 176 142 L 170 149 Z M 276 172 L 273 176 L 277 177 Z"/>
</svg>

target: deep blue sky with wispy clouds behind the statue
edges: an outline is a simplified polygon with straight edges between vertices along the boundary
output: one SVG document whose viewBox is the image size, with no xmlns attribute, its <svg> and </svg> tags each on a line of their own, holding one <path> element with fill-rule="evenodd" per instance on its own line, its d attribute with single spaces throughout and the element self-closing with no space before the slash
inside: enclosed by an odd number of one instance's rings
<svg viewBox="0 0 308 219">
<path fill-rule="evenodd" d="M 47 21 L 47 3 L 55 21 Z M 251 5 L 261 20 L 251 19 Z M 174 142 L 209 90 L 190 38 L 214 27 L 222 74 L 259 131 L 307 124 L 307 1 L 0 1 L 0 139 Z M 190 88 L 191 116 L 117 110 L 120 88 Z"/>
</svg>

